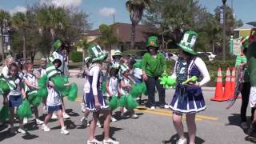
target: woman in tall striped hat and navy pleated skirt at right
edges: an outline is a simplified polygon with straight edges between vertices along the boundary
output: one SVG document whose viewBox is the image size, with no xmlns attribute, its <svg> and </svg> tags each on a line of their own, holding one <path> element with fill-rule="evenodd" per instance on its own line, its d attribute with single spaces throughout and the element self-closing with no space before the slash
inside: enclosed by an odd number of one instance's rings
<svg viewBox="0 0 256 144">
<path fill-rule="evenodd" d="M 190 144 L 194 144 L 196 135 L 195 115 L 206 109 L 201 86 L 210 81 L 210 75 L 205 62 L 198 58 L 193 50 L 197 37 L 198 34 L 192 30 L 186 31 L 183 35 L 182 41 L 178 44 L 180 46 L 178 62 L 176 62 L 174 73 L 171 76 L 177 81 L 175 94 L 170 102 L 170 109 L 174 111 L 173 122 L 179 136 L 178 144 L 186 144 L 182 115 L 186 114 Z M 202 78 L 202 80 L 182 85 L 182 82 L 186 82 L 188 78 L 193 76 Z"/>
</svg>

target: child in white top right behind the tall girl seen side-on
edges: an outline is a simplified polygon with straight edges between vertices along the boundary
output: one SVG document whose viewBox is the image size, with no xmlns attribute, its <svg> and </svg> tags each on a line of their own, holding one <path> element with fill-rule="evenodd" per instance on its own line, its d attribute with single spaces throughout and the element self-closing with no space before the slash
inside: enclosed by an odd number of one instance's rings
<svg viewBox="0 0 256 144">
<path fill-rule="evenodd" d="M 106 78 L 106 96 L 109 101 L 113 96 L 118 97 L 118 86 L 119 86 L 119 78 L 117 76 L 119 71 L 119 64 L 111 62 L 110 66 L 110 74 L 108 78 Z M 111 112 L 112 113 L 112 112 Z M 112 114 L 111 114 L 112 115 Z M 116 122 L 117 119 L 111 116 L 111 122 Z"/>
</svg>

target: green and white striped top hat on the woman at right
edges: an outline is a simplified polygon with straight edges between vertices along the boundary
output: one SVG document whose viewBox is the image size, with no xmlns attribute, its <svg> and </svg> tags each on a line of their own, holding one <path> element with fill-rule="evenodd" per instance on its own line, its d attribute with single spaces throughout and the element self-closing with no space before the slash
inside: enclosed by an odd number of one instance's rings
<svg viewBox="0 0 256 144">
<path fill-rule="evenodd" d="M 194 52 L 194 43 L 197 41 L 197 38 L 198 34 L 196 32 L 192 30 L 186 31 L 178 46 L 187 53 L 196 55 L 197 53 Z"/>
</svg>

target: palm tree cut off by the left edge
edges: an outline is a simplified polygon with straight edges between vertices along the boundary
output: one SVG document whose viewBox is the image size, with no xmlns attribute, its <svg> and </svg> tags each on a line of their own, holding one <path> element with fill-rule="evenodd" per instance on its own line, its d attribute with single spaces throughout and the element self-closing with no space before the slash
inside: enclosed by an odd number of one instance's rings
<svg viewBox="0 0 256 144">
<path fill-rule="evenodd" d="M 10 13 L 6 10 L 0 10 L 0 30 L 2 35 L 2 62 L 5 60 L 5 54 L 3 50 L 3 27 L 4 23 L 8 22 L 10 20 Z"/>
</svg>

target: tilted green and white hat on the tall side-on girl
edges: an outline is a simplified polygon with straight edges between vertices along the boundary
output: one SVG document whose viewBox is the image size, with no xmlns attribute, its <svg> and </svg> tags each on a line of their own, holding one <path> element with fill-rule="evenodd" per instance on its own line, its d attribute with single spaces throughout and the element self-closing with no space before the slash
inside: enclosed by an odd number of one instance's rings
<svg viewBox="0 0 256 144">
<path fill-rule="evenodd" d="M 106 51 L 102 51 L 102 48 L 98 45 L 91 45 L 88 49 L 88 53 L 92 58 L 92 62 L 102 61 L 107 58 Z"/>
</svg>

